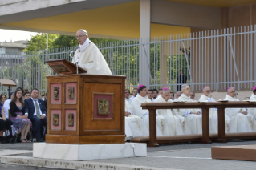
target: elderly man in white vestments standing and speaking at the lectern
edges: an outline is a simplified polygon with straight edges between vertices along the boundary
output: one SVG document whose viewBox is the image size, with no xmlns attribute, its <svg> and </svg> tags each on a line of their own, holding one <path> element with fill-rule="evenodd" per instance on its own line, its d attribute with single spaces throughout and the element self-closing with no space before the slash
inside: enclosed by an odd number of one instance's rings
<svg viewBox="0 0 256 170">
<path fill-rule="evenodd" d="M 72 63 L 77 63 L 90 75 L 112 75 L 104 56 L 98 47 L 89 40 L 87 31 L 78 30 L 76 39 L 79 42 L 79 48 L 75 51 Z"/>
</svg>

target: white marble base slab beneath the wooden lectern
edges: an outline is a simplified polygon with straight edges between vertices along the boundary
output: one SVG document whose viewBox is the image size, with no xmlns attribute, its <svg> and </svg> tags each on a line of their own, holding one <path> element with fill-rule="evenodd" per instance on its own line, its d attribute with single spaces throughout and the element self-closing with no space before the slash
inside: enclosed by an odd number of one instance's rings
<svg viewBox="0 0 256 170">
<path fill-rule="evenodd" d="M 33 157 L 58 160 L 102 160 L 147 156 L 147 144 L 34 143 Z"/>
</svg>

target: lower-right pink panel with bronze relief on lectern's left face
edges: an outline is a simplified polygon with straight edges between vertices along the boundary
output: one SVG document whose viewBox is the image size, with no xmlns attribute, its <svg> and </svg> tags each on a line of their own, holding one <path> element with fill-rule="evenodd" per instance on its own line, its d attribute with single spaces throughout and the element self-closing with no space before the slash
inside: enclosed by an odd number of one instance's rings
<svg viewBox="0 0 256 170">
<path fill-rule="evenodd" d="M 65 111 L 65 131 L 76 131 L 77 114 L 75 109 Z"/>
</svg>

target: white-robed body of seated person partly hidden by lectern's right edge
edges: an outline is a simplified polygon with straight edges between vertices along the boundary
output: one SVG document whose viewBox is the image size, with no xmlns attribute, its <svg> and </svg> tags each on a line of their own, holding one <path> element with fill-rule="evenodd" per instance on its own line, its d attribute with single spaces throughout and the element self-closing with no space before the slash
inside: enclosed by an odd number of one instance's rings
<svg viewBox="0 0 256 170">
<path fill-rule="evenodd" d="M 126 140 L 131 140 L 138 136 L 149 136 L 148 128 L 144 120 L 136 115 L 132 115 L 131 105 L 125 100 L 125 135 Z"/>
</svg>

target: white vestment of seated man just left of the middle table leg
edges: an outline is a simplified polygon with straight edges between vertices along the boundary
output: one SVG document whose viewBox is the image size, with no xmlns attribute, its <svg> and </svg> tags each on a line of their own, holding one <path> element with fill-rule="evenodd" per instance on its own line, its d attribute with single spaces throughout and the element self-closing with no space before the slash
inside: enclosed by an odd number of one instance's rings
<svg viewBox="0 0 256 170">
<path fill-rule="evenodd" d="M 182 94 L 181 97 L 177 99 L 177 101 L 193 102 L 193 99 L 190 99 L 189 96 Z M 191 134 L 202 134 L 201 115 L 190 114 L 190 112 L 201 113 L 201 109 L 182 108 L 182 109 L 177 109 L 176 111 L 178 115 L 181 115 L 186 118 L 189 124 L 189 129 Z"/>
</svg>

